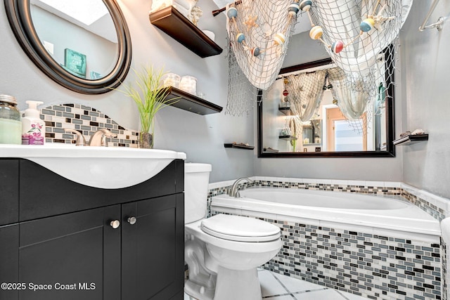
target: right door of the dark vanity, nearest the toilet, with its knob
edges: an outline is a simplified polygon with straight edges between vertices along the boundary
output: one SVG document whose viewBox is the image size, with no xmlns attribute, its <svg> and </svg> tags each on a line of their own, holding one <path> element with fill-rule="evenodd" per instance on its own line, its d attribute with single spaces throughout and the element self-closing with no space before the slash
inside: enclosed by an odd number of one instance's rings
<svg viewBox="0 0 450 300">
<path fill-rule="evenodd" d="M 122 204 L 122 223 L 122 299 L 167 300 L 181 292 L 184 194 Z"/>
</svg>

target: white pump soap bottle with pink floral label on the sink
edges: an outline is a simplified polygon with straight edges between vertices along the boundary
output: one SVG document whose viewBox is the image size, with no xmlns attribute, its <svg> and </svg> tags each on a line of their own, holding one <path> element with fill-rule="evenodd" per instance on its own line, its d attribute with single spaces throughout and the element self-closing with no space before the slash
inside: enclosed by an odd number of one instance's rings
<svg viewBox="0 0 450 300">
<path fill-rule="evenodd" d="M 25 117 L 22 118 L 22 145 L 44 145 L 45 143 L 45 122 L 39 118 L 37 105 L 41 101 L 25 101 L 28 108 L 25 110 Z"/>
</svg>

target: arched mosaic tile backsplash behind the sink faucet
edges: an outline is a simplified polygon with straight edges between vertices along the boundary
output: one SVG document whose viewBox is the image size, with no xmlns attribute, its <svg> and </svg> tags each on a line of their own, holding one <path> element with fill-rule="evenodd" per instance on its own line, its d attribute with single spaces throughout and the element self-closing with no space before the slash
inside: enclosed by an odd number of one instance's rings
<svg viewBox="0 0 450 300">
<path fill-rule="evenodd" d="M 138 131 L 124 129 L 108 115 L 86 105 L 51 105 L 41 109 L 39 117 L 46 124 L 46 143 L 75 144 L 75 134 L 66 133 L 65 128 L 79 131 L 86 142 L 98 129 L 105 128 L 117 134 L 117 138 L 106 138 L 110 147 L 138 148 L 139 145 Z"/>
</svg>

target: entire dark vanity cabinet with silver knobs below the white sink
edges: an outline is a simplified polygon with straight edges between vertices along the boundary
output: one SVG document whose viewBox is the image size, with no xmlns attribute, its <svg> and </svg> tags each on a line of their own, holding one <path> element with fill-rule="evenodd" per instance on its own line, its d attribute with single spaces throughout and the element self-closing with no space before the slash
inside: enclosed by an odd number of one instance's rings
<svg viewBox="0 0 450 300">
<path fill-rule="evenodd" d="M 111 190 L 0 159 L 0 299 L 182 299 L 183 190 L 180 159 Z"/>
</svg>

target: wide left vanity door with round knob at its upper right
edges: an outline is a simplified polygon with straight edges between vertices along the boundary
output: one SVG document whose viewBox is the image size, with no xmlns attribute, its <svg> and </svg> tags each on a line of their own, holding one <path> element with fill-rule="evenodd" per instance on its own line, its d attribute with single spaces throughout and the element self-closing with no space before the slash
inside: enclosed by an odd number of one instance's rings
<svg viewBox="0 0 450 300">
<path fill-rule="evenodd" d="M 120 205 L 20 223 L 19 299 L 120 299 L 115 219 Z"/>
</svg>

